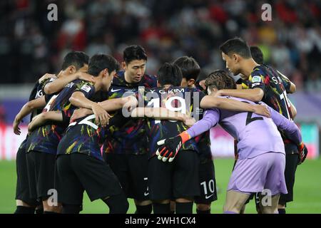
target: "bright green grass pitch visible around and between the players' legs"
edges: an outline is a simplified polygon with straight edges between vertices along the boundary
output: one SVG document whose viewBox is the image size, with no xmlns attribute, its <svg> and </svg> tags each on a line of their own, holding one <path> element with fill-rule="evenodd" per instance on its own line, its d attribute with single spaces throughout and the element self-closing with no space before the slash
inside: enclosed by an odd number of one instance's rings
<svg viewBox="0 0 321 228">
<path fill-rule="evenodd" d="M 216 181 L 218 184 L 218 200 L 212 203 L 212 213 L 223 212 L 225 190 L 228 185 L 230 172 L 233 167 L 231 159 L 215 160 Z M 0 161 L 0 214 L 13 213 L 15 210 L 16 192 L 16 165 L 14 161 Z M 321 213 L 321 159 L 306 160 L 297 167 L 295 177 L 295 199 L 287 205 L 287 213 Z M 133 200 L 130 200 L 128 213 L 135 212 Z M 195 212 L 195 205 L 194 205 Z M 81 213 L 108 213 L 106 204 L 97 200 L 90 202 L 84 196 L 83 212 Z M 250 202 L 245 213 L 255 213 L 255 204 Z"/>
</svg>

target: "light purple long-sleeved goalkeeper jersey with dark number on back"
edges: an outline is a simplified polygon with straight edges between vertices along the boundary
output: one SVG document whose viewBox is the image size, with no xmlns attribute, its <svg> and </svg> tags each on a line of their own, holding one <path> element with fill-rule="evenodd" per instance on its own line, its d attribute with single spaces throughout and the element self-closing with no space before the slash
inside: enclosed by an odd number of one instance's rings
<svg viewBox="0 0 321 228">
<path fill-rule="evenodd" d="M 227 98 L 255 104 L 242 98 Z M 203 119 L 195 123 L 187 132 L 193 138 L 220 123 L 224 130 L 238 140 L 240 160 L 255 157 L 265 152 L 285 153 L 284 143 L 277 128 L 284 130 L 287 136 L 297 144 L 302 140 L 300 130 L 294 122 L 272 108 L 268 108 L 271 118 L 265 118 L 255 113 L 233 112 L 217 108 L 208 109 L 205 111 Z"/>
</svg>

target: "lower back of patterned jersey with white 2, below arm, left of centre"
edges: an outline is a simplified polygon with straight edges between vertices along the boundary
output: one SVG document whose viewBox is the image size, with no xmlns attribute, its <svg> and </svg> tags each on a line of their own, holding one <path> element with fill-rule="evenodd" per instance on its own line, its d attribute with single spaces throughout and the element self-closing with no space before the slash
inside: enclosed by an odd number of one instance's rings
<svg viewBox="0 0 321 228">
<path fill-rule="evenodd" d="M 57 154 L 80 152 L 103 160 L 101 146 L 106 140 L 107 128 L 96 125 L 95 115 L 87 115 L 71 123 L 60 140 Z"/>
</svg>

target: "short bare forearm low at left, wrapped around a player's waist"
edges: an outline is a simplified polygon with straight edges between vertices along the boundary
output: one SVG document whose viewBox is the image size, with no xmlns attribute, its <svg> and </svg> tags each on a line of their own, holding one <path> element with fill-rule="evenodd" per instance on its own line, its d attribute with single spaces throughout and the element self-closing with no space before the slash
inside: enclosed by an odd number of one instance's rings
<svg viewBox="0 0 321 228">
<path fill-rule="evenodd" d="M 45 113 L 40 113 L 36 115 L 28 125 L 28 132 L 32 132 L 34 129 L 45 125 L 49 120 L 63 121 L 63 116 L 61 111 L 49 111 Z"/>
</svg>

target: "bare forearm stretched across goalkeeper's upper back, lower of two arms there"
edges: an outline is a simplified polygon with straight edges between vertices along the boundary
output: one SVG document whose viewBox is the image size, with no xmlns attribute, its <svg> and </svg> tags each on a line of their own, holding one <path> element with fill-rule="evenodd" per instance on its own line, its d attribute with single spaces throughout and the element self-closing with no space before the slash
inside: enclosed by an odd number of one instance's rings
<svg viewBox="0 0 321 228">
<path fill-rule="evenodd" d="M 228 98 L 207 95 L 200 101 L 201 108 L 221 108 L 239 112 L 255 112 L 255 105 Z"/>
</svg>

